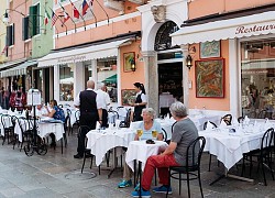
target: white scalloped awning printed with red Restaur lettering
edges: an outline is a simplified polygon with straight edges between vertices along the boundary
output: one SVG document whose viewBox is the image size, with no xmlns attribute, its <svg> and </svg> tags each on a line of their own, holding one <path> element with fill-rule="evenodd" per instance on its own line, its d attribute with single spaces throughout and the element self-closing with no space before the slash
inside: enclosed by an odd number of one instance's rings
<svg viewBox="0 0 275 198">
<path fill-rule="evenodd" d="M 207 41 L 249 37 L 275 33 L 275 11 L 252 14 L 230 20 L 185 26 L 170 34 L 173 45 L 185 45 Z"/>
</svg>

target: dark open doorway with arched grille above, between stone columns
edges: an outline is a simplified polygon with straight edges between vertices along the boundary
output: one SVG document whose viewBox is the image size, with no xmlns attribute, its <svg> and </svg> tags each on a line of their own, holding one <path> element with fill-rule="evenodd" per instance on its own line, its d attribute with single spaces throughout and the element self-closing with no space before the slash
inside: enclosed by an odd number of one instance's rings
<svg viewBox="0 0 275 198">
<path fill-rule="evenodd" d="M 178 26 L 167 21 L 158 29 L 154 50 L 157 52 L 158 105 L 161 116 L 169 112 L 169 106 L 176 100 L 183 101 L 183 52 L 172 45 L 170 34 Z"/>
</svg>

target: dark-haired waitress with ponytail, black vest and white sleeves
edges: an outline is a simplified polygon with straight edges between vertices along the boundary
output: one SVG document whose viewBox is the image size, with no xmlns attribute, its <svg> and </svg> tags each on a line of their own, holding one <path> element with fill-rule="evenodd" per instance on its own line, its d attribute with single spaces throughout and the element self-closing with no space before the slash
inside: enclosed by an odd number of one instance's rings
<svg viewBox="0 0 275 198">
<path fill-rule="evenodd" d="M 134 107 L 133 121 L 141 121 L 142 109 L 146 108 L 147 97 L 143 84 L 135 82 L 134 88 L 136 91 L 135 101 L 134 103 L 131 103 L 131 106 Z"/>
</svg>

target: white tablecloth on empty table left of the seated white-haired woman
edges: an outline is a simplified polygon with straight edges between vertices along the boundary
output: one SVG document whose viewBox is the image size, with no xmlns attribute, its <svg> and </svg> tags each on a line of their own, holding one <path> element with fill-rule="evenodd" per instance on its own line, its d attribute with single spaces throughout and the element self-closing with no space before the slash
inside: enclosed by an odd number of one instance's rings
<svg viewBox="0 0 275 198">
<path fill-rule="evenodd" d="M 88 142 L 87 148 L 96 156 L 96 165 L 99 166 L 105 154 L 117 146 L 128 147 L 129 143 L 134 140 L 135 131 L 129 129 L 107 129 L 107 130 L 91 130 L 87 133 Z"/>
</svg>

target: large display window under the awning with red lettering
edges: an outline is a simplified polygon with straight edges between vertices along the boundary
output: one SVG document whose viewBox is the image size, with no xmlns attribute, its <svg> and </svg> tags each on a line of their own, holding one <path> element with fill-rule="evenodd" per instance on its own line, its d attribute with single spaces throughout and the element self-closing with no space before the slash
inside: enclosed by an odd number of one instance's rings
<svg viewBox="0 0 275 198">
<path fill-rule="evenodd" d="M 242 113 L 275 119 L 275 38 L 241 43 Z"/>
</svg>

